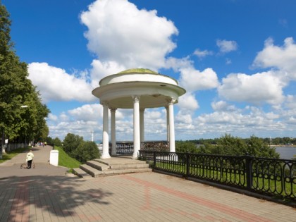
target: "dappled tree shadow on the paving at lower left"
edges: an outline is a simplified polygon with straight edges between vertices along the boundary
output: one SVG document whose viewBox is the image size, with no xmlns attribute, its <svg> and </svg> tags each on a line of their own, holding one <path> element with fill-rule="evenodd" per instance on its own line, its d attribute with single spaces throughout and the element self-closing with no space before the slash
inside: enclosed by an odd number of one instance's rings
<svg viewBox="0 0 296 222">
<path fill-rule="evenodd" d="M 104 197 L 112 195 L 102 189 L 83 187 L 85 180 L 65 175 L 14 176 L 0 182 L 0 221 L 29 218 L 29 211 L 36 217 L 48 213 L 71 216 L 85 202 L 109 204 Z"/>
</svg>

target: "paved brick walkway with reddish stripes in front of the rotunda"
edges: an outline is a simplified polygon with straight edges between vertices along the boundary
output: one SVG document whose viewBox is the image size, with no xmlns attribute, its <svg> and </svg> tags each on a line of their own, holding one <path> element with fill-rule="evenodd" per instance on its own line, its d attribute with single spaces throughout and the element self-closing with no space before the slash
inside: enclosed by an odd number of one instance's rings
<svg viewBox="0 0 296 222">
<path fill-rule="evenodd" d="M 50 147 L 0 164 L 0 221 L 296 221 L 296 209 L 170 175 L 81 179 L 48 164 Z"/>
</svg>

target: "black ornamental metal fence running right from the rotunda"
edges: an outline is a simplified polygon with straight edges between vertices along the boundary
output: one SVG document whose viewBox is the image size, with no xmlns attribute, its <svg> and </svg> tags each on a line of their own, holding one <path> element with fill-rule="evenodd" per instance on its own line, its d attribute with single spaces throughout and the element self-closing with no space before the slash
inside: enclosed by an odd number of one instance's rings
<svg viewBox="0 0 296 222">
<path fill-rule="evenodd" d="M 296 201 L 296 161 L 140 150 L 139 159 L 158 171 Z"/>
</svg>

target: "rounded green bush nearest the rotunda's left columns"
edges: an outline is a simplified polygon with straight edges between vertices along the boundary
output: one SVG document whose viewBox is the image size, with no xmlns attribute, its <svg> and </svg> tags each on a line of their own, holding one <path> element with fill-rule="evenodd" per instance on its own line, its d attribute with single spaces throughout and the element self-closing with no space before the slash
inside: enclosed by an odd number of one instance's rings
<svg viewBox="0 0 296 222">
<path fill-rule="evenodd" d="M 86 161 L 99 158 L 99 149 L 97 144 L 90 141 L 80 142 L 77 149 L 74 152 L 75 159 L 80 161 L 81 163 L 85 163 Z"/>
</svg>

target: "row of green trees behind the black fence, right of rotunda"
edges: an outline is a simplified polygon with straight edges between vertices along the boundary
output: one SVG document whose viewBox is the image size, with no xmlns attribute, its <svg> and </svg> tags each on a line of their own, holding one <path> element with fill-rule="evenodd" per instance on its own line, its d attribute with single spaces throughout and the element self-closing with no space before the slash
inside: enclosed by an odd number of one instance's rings
<svg viewBox="0 0 296 222">
<path fill-rule="evenodd" d="M 221 155 L 252 155 L 256 157 L 276 158 L 280 155 L 275 147 L 270 146 L 270 140 L 259 137 L 242 139 L 226 134 L 217 139 L 187 140 L 175 142 L 176 152 Z"/>
</svg>

